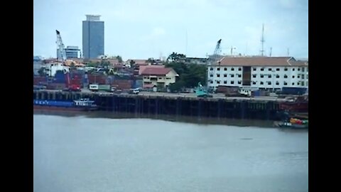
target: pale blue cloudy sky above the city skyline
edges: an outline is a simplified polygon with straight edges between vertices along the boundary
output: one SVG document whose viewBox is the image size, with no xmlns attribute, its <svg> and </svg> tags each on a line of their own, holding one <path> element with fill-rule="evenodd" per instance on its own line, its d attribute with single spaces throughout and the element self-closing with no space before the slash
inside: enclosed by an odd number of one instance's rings
<svg viewBox="0 0 341 192">
<path fill-rule="evenodd" d="M 33 55 L 56 57 L 56 29 L 82 49 L 86 14 L 101 15 L 104 54 L 123 60 L 205 58 L 220 38 L 222 54 L 259 55 L 263 24 L 265 55 L 308 58 L 308 0 L 33 0 Z"/>
</svg>

